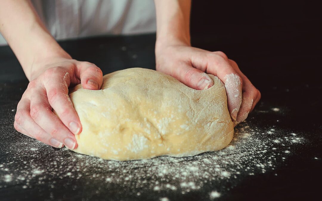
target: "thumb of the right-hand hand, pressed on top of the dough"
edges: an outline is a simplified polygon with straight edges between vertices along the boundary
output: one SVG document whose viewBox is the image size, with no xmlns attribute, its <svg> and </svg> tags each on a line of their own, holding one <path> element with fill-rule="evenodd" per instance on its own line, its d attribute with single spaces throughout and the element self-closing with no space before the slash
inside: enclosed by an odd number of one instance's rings
<svg viewBox="0 0 322 201">
<path fill-rule="evenodd" d="M 169 74 L 169 72 L 165 72 Z M 174 68 L 170 75 L 186 86 L 196 89 L 204 90 L 213 86 L 213 79 L 210 78 L 203 71 L 196 69 L 192 66 L 184 65 L 180 68 Z"/>
</svg>

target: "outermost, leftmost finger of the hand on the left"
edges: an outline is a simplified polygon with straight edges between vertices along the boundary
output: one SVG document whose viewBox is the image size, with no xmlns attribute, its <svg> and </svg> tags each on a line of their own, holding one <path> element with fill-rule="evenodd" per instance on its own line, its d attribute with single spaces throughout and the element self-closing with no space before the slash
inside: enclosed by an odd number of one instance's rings
<svg viewBox="0 0 322 201">
<path fill-rule="evenodd" d="M 14 128 L 29 137 L 35 138 L 45 144 L 56 148 L 62 148 L 62 142 L 53 138 L 50 134 L 45 132 L 40 126 L 33 121 L 30 116 L 30 101 L 22 99 L 17 107 L 17 113 L 14 117 Z"/>
</svg>

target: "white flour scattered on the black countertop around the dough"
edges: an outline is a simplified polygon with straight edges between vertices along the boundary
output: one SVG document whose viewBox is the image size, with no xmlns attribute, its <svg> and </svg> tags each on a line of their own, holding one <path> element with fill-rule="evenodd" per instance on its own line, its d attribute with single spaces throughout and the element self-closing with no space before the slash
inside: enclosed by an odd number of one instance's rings
<svg viewBox="0 0 322 201">
<path fill-rule="evenodd" d="M 245 178 L 265 172 L 275 175 L 275 169 L 282 167 L 284 161 L 306 143 L 302 136 L 277 126 L 259 128 L 251 122 L 243 122 L 235 128 L 229 146 L 221 151 L 194 157 L 162 156 L 124 162 L 81 155 L 66 148 L 58 150 L 24 137 L 8 150 L 12 153 L 11 160 L 0 164 L 0 187 L 18 185 L 24 189 L 43 184 L 54 189 L 59 186 L 51 178 L 65 180 L 67 186 L 72 185 L 68 184 L 71 179 L 75 180 L 73 183 L 95 179 L 103 189 L 131 187 L 133 195 L 143 197 L 145 192 L 151 191 L 163 196 L 174 192 L 187 194 L 207 189 L 210 183 L 229 183 L 231 186 L 208 189 L 205 199 L 215 199 L 223 197 L 227 188 L 239 185 Z M 136 140 L 137 147 L 144 147 L 140 139 Z M 320 159 L 312 157 L 312 160 Z"/>
</svg>

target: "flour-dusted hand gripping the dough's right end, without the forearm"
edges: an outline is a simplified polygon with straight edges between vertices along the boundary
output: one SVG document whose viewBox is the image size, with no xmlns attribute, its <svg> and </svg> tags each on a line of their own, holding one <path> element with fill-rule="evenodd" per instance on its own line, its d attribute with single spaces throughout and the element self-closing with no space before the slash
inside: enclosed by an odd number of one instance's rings
<svg viewBox="0 0 322 201">
<path fill-rule="evenodd" d="M 260 100 L 259 90 L 240 71 L 236 62 L 221 51 L 210 52 L 185 43 L 157 41 L 156 70 L 197 90 L 213 86 L 213 80 L 206 73 L 217 76 L 225 84 L 234 126 L 244 121 Z"/>
</svg>

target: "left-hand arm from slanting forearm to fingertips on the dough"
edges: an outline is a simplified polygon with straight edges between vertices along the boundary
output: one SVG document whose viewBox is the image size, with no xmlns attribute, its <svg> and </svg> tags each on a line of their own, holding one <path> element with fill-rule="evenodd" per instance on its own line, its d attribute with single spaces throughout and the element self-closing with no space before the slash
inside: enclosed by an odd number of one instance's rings
<svg viewBox="0 0 322 201">
<path fill-rule="evenodd" d="M 30 0 L 0 1 L 0 32 L 30 80 L 17 105 L 15 129 L 54 147 L 77 148 L 74 134 L 82 128 L 68 87 L 81 83 L 99 89 L 101 70 L 72 59 L 46 30 Z"/>
</svg>

